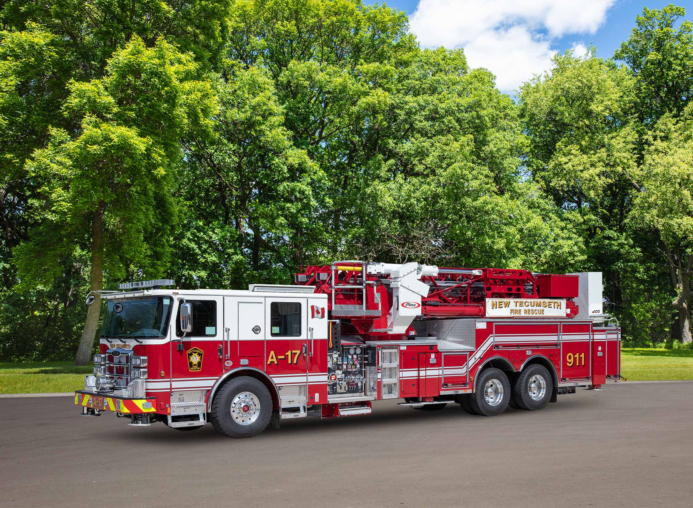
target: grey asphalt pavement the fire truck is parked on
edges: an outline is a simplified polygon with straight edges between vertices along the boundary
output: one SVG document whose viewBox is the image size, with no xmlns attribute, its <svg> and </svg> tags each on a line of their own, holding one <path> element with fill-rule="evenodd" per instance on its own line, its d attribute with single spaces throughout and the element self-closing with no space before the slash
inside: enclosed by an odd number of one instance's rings
<svg viewBox="0 0 693 508">
<path fill-rule="evenodd" d="M 693 383 L 578 389 L 493 418 L 377 401 L 252 439 L 78 413 L 0 398 L 1 507 L 693 505 Z"/>
</svg>

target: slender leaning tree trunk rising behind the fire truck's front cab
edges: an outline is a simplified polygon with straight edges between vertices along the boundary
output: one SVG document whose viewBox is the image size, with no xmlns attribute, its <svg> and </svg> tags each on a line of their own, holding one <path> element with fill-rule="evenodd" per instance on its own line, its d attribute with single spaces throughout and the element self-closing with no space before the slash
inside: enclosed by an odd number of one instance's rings
<svg viewBox="0 0 693 508">
<path fill-rule="evenodd" d="M 105 204 L 99 203 L 94 217 L 91 219 L 91 275 L 89 276 L 89 290 L 100 291 L 103 289 L 103 214 Z M 82 331 L 82 340 L 77 349 L 75 365 L 89 365 L 91 349 L 94 348 L 94 337 L 98 328 L 98 315 L 100 313 L 99 295 L 96 295 L 94 303 L 87 307 L 87 320 Z"/>
</svg>

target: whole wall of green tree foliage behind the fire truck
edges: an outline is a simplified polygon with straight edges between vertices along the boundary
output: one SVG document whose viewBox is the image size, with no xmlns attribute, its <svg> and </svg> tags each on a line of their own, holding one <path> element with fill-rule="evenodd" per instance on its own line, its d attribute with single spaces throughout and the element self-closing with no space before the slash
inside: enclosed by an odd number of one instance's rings
<svg viewBox="0 0 693 508">
<path fill-rule="evenodd" d="M 601 270 L 629 340 L 690 339 L 683 8 L 646 8 L 613 60 L 557 55 L 517 100 L 359 0 L 0 16 L 3 358 L 71 356 L 80 331 L 87 354 L 79 301 L 116 281 L 238 288 L 338 258 Z"/>
</svg>

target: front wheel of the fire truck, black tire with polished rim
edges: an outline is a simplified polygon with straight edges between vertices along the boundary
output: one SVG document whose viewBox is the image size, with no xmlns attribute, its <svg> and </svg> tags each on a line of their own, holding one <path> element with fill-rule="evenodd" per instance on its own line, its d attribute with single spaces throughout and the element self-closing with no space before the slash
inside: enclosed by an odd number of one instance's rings
<svg viewBox="0 0 693 508">
<path fill-rule="evenodd" d="M 243 405 L 236 408 L 236 414 L 232 415 L 231 404 L 237 397 L 240 400 L 236 401 L 236 404 Z M 243 412 L 242 408 L 246 406 L 248 411 Z M 212 402 L 209 416 L 212 426 L 220 434 L 234 438 L 253 437 L 265 430 L 270 423 L 272 396 L 267 387 L 257 379 L 241 376 L 230 380 L 219 389 Z M 244 419 L 246 416 L 247 420 Z"/>
</svg>

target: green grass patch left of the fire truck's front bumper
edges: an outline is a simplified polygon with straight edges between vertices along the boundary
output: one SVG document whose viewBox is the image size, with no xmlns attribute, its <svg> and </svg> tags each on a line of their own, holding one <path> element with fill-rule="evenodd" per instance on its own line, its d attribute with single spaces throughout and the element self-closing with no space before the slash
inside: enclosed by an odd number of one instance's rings
<svg viewBox="0 0 693 508">
<path fill-rule="evenodd" d="M 0 394 L 72 392 L 84 388 L 92 371 L 73 362 L 0 363 Z"/>
</svg>

